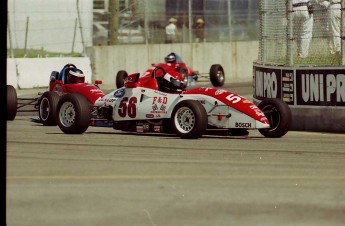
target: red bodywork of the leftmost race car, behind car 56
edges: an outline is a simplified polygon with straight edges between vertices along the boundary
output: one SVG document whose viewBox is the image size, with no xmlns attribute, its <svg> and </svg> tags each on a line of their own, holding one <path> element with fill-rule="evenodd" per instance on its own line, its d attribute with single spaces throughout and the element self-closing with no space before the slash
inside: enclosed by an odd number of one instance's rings
<svg viewBox="0 0 345 226">
<path fill-rule="evenodd" d="M 97 86 L 97 84 L 101 83 L 96 81 L 96 85 L 89 83 L 63 84 L 61 80 L 56 80 L 50 82 L 49 91 L 57 92 L 60 96 L 67 93 L 78 93 L 86 97 L 92 105 L 98 98 L 105 96 L 104 92 Z"/>
</svg>

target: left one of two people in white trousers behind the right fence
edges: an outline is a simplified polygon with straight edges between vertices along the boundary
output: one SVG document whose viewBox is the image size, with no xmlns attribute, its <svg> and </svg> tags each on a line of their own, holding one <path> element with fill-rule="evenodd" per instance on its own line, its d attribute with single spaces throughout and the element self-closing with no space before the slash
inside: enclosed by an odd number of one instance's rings
<svg viewBox="0 0 345 226">
<path fill-rule="evenodd" d="M 297 54 L 305 58 L 309 54 L 309 46 L 313 35 L 313 13 L 309 0 L 292 0 L 293 31 L 297 44 Z"/>
</svg>

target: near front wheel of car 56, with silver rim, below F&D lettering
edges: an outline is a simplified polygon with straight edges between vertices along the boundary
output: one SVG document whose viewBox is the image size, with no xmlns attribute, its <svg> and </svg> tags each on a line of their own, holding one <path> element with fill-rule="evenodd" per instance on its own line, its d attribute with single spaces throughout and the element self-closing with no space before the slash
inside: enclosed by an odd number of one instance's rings
<svg viewBox="0 0 345 226">
<path fill-rule="evenodd" d="M 201 137 L 208 124 L 207 112 L 197 100 L 183 100 L 178 103 L 171 115 L 171 126 L 175 134 L 183 139 Z"/>
</svg>

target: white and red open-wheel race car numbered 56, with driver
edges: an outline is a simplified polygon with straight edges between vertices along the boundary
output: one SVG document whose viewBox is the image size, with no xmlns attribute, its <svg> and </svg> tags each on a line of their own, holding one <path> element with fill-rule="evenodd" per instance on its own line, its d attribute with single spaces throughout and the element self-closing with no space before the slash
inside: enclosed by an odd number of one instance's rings
<svg viewBox="0 0 345 226">
<path fill-rule="evenodd" d="M 160 79 L 156 77 L 159 70 L 164 74 Z M 157 67 L 149 76 L 128 75 L 124 87 L 96 100 L 67 93 L 57 103 L 56 122 L 67 134 L 82 134 L 101 121 L 117 130 L 173 133 L 186 139 L 197 139 L 211 129 L 258 129 L 271 138 L 289 131 L 291 111 L 279 99 L 266 99 L 256 106 L 221 88 L 184 90 L 171 73 Z"/>
</svg>

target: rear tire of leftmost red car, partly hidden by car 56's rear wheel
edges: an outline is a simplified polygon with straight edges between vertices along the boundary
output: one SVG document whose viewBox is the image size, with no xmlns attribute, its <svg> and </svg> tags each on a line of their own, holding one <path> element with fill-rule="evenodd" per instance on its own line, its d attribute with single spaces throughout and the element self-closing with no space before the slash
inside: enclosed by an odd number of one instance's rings
<svg viewBox="0 0 345 226">
<path fill-rule="evenodd" d="M 56 92 L 47 91 L 42 94 L 38 103 L 38 116 L 44 126 L 56 126 L 56 111 L 60 96 Z"/>
</svg>

